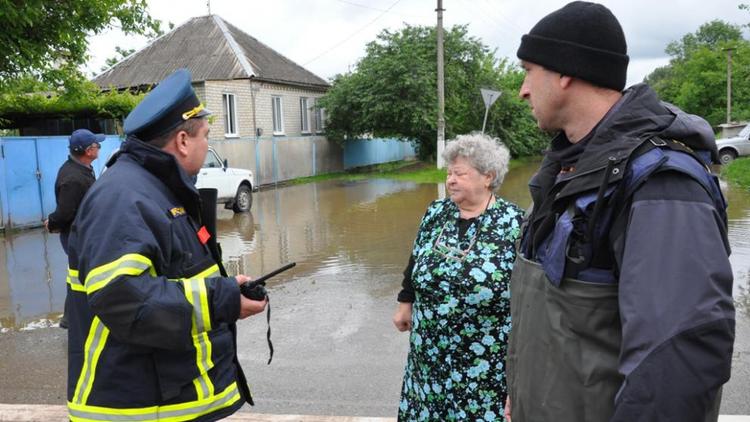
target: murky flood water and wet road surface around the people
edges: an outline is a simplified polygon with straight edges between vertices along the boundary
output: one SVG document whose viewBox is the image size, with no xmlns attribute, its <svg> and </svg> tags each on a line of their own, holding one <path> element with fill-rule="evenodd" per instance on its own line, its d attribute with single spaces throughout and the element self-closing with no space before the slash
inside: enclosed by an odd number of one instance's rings
<svg viewBox="0 0 750 422">
<path fill-rule="evenodd" d="M 528 206 L 526 184 L 536 166 L 513 169 L 500 195 Z M 230 273 L 258 276 L 297 262 L 269 283 L 276 349 L 271 366 L 266 365 L 265 318 L 240 323 L 240 360 L 258 403 L 253 411 L 395 414 L 408 339 L 392 328 L 390 317 L 420 219 L 439 191 L 434 184 L 378 179 L 321 182 L 256 192 L 249 214 L 220 212 L 219 242 Z M 745 400 L 750 391 L 750 192 L 725 186 L 725 194 L 738 315 L 733 376 L 722 413 L 750 414 Z M 28 341 L 27 331 L 64 343 L 55 326 L 65 298 L 65 270 L 56 235 L 32 230 L 0 238 L 0 353 Z M 64 385 L 65 371 L 64 362 L 50 364 L 60 365 L 48 375 L 60 379 L 50 381 L 52 390 Z M 0 359 L 6 375 L 29 365 Z M 17 377 L 22 382 L 23 372 L 17 370 Z M 0 386 L 0 402 L 59 404 L 64 394 L 9 391 Z"/>
</svg>

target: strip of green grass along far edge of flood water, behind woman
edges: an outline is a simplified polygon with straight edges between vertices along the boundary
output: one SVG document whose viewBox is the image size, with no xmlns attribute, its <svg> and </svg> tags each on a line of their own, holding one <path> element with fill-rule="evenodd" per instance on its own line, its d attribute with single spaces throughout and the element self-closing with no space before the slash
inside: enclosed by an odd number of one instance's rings
<svg viewBox="0 0 750 422">
<path fill-rule="evenodd" d="M 523 157 L 511 160 L 510 169 L 524 166 L 538 160 L 538 157 Z M 291 185 L 302 183 L 322 182 L 325 180 L 355 181 L 364 179 L 393 179 L 416 183 L 445 182 L 445 169 L 438 169 L 435 163 L 422 161 L 394 161 L 374 166 L 360 167 L 346 172 L 320 174 L 317 176 L 300 177 L 288 182 Z"/>
</svg>

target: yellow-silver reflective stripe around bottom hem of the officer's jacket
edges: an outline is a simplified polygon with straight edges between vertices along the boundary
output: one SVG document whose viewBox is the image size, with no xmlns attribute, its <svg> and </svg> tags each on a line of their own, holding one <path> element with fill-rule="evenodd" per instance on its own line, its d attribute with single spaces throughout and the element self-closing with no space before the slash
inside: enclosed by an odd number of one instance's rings
<svg viewBox="0 0 750 422">
<path fill-rule="evenodd" d="M 86 406 L 68 402 L 68 415 L 72 421 L 167 421 L 179 422 L 198 418 L 229 407 L 241 399 L 237 383 L 217 395 L 186 403 L 168 406 L 116 409 L 102 406 Z"/>
</svg>

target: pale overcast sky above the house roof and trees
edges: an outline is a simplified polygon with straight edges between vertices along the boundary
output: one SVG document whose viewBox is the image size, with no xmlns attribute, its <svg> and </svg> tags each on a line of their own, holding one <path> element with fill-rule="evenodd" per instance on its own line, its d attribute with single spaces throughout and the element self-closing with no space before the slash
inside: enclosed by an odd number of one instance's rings
<svg viewBox="0 0 750 422">
<path fill-rule="evenodd" d="M 602 1 L 620 20 L 628 41 L 628 85 L 640 82 L 668 62 L 670 41 L 713 19 L 743 24 L 750 13 L 741 0 Z M 750 1 L 746 1 L 750 2 Z M 180 25 L 208 14 L 206 0 L 149 0 L 151 16 Z M 212 0 L 221 16 L 261 42 L 324 79 L 346 72 L 364 54 L 364 46 L 383 29 L 405 23 L 435 25 L 437 0 Z M 445 27 L 468 24 L 469 33 L 496 49 L 497 57 L 516 60 L 521 36 L 539 19 L 564 6 L 557 0 L 443 0 Z M 91 38 L 89 73 L 99 73 L 115 46 L 140 49 L 143 37 L 116 30 Z"/>
</svg>

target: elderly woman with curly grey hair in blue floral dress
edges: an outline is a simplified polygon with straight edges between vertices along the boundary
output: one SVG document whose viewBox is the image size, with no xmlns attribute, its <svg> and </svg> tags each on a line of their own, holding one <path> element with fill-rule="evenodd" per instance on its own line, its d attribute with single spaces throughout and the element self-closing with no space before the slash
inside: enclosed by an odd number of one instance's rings
<svg viewBox="0 0 750 422">
<path fill-rule="evenodd" d="M 393 322 L 411 330 L 399 420 L 502 420 L 508 281 L 522 211 L 495 196 L 510 154 L 485 135 L 443 153 L 449 199 L 427 209 Z"/>
</svg>

